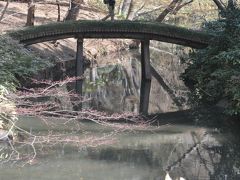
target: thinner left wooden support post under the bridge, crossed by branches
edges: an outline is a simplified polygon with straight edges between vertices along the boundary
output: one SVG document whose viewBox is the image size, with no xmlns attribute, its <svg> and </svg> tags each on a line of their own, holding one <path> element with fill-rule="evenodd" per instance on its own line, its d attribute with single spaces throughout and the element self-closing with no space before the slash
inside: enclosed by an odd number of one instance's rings
<svg viewBox="0 0 240 180">
<path fill-rule="evenodd" d="M 77 39 L 77 53 L 76 53 L 76 72 L 75 76 L 77 78 L 82 77 L 84 74 L 84 69 L 83 69 L 83 39 L 78 38 Z M 75 85 L 75 90 L 76 93 L 82 96 L 82 84 L 83 80 L 78 79 L 76 80 L 76 85 Z M 82 109 L 82 103 L 78 105 L 78 110 Z"/>
</svg>

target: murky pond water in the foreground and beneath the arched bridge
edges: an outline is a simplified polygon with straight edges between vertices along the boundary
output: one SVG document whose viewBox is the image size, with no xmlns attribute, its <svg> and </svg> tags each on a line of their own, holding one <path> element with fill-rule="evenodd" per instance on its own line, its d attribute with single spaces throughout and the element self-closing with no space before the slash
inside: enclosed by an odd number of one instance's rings
<svg viewBox="0 0 240 180">
<path fill-rule="evenodd" d="M 168 48 L 151 50 L 158 74 L 149 104 L 155 124 L 20 117 L 17 126 L 34 136 L 0 144 L 0 180 L 240 179 L 239 125 L 215 110 L 186 111 L 188 90 L 179 78 L 184 68 Z M 83 108 L 137 113 L 139 58 L 138 51 L 121 52 L 87 69 Z M 68 99 L 59 101 L 71 108 Z"/>
</svg>

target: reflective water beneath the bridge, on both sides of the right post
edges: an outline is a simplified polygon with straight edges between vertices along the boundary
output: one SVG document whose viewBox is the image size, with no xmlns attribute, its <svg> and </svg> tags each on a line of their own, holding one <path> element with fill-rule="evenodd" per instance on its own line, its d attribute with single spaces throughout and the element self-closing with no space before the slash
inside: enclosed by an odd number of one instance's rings
<svg viewBox="0 0 240 180">
<path fill-rule="evenodd" d="M 140 107 L 140 53 L 124 51 L 101 57 L 97 61 L 99 66 L 86 70 L 85 99 L 92 98 L 92 101 L 85 103 L 85 108 L 137 113 Z M 149 113 L 186 109 L 188 91 L 179 78 L 183 71 L 179 58 L 171 53 L 154 53 L 153 49 L 151 62 L 154 67 Z"/>
</svg>

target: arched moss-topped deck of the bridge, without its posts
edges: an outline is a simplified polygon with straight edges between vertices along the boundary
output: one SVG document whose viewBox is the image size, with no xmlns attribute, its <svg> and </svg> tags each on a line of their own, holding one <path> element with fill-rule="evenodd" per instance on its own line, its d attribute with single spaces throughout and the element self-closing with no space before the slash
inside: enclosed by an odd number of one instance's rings
<svg viewBox="0 0 240 180">
<path fill-rule="evenodd" d="M 142 21 L 67 21 L 52 23 L 9 33 L 26 45 L 64 38 L 124 38 L 157 40 L 205 48 L 212 35 L 163 23 Z"/>
</svg>

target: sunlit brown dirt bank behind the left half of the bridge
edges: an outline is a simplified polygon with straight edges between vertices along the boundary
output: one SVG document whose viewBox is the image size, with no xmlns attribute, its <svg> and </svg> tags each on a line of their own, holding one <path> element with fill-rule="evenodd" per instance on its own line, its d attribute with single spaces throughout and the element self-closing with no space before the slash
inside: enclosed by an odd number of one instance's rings
<svg viewBox="0 0 240 180">
<path fill-rule="evenodd" d="M 6 2 L 0 1 L 0 10 Z M 61 6 L 61 20 L 64 19 L 68 7 Z M 91 8 L 87 3 L 82 4 L 77 19 L 102 19 L 106 14 Z M 9 30 L 15 30 L 25 26 L 27 19 L 27 3 L 10 2 L 7 12 L 0 23 L 0 34 Z M 35 25 L 41 25 L 57 21 L 57 6 L 51 4 L 36 4 Z M 84 55 L 95 60 L 98 56 L 116 52 L 127 47 L 125 40 L 86 39 L 84 41 Z M 59 40 L 57 43 L 39 43 L 30 46 L 41 57 L 51 58 L 55 61 L 66 61 L 75 58 L 76 40 L 73 38 Z M 113 62 L 114 63 L 114 62 Z"/>
</svg>

